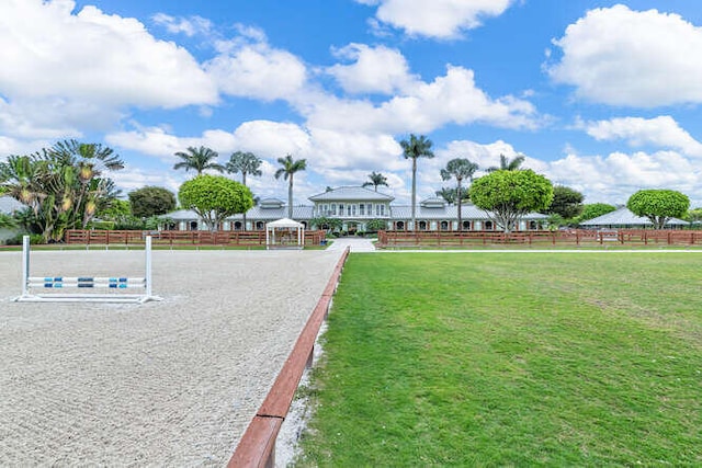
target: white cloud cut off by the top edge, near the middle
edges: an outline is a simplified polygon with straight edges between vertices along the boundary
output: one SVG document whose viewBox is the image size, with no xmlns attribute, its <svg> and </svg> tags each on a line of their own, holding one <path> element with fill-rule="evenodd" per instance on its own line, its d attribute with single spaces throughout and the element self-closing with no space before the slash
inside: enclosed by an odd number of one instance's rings
<svg viewBox="0 0 702 468">
<path fill-rule="evenodd" d="M 375 18 L 410 36 L 453 38 L 478 27 L 482 19 L 499 16 L 511 0 L 355 0 L 377 5 Z"/>
</svg>

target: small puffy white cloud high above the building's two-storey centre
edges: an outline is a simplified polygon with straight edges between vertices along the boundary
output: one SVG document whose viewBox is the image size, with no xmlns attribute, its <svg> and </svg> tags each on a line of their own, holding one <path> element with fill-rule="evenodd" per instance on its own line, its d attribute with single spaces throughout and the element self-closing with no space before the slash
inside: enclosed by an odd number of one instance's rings
<svg viewBox="0 0 702 468">
<path fill-rule="evenodd" d="M 397 49 L 349 44 L 333 53 L 338 58 L 354 60 L 352 65 L 338 64 L 327 68 L 327 72 L 347 92 L 390 94 L 417 82 L 417 77 L 409 73 L 407 60 Z"/>
</svg>

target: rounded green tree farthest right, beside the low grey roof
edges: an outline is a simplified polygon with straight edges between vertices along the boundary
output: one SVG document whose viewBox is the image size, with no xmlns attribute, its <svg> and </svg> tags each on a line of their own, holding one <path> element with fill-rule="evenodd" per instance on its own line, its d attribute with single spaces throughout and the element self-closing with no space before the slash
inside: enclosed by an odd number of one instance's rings
<svg viewBox="0 0 702 468">
<path fill-rule="evenodd" d="M 626 202 L 636 216 L 645 216 L 655 229 L 663 229 L 671 218 L 681 218 L 690 208 L 690 198 L 673 190 L 639 190 Z"/>
</svg>

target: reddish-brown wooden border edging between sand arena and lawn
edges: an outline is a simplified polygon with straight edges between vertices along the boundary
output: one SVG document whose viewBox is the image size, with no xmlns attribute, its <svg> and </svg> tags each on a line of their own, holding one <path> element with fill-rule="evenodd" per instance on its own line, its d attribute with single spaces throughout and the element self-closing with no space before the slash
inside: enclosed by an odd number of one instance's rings
<svg viewBox="0 0 702 468">
<path fill-rule="evenodd" d="M 275 465 L 275 440 L 293 402 L 305 368 L 312 363 L 315 341 L 331 307 L 343 265 L 349 258 L 347 247 L 337 262 L 317 306 L 297 338 L 293 351 L 275 378 L 273 387 L 247 427 L 239 445 L 227 464 L 228 468 L 273 467 Z"/>
</svg>

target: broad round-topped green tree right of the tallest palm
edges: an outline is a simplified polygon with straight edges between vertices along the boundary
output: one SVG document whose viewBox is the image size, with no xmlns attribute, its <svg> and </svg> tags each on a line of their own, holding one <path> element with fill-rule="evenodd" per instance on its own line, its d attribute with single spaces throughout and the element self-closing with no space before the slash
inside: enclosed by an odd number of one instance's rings
<svg viewBox="0 0 702 468">
<path fill-rule="evenodd" d="M 531 169 L 499 170 L 473 182 L 471 199 L 478 208 L 491 212 L 495 222 L 509 232 L 520 217 L 546 209 L 553 199 L 553 185 Z"/>
</svg>

